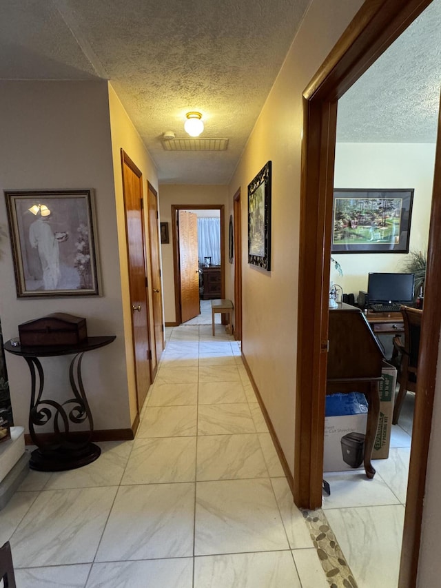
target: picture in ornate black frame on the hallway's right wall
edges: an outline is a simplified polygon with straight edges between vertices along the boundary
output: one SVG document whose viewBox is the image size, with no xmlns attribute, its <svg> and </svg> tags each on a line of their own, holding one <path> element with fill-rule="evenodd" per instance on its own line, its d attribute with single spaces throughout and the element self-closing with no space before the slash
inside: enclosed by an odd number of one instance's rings
<svg viewBox="0 0 441 588">
<path fill-rule="evenodd" d="M 248 184 L 248 263 L 271 269 L 271 161 Z"/>
</svg>

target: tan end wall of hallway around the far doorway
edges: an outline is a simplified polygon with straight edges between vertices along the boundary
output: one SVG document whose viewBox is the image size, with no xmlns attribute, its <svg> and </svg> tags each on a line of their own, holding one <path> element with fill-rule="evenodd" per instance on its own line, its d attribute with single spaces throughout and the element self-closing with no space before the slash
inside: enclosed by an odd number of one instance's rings
<svg viewBox="0 0 441 588">
<path fill-rule="evenodd" d="M 172 205 L 216 204 L 225 205 L 225 274 L 228 263 L 228 219 L 227 186 L 219 185 L 174 185 L 162 184 L 159 193 L 161 223 L 169 223 L 170 243 L 161 245 L 163 258 L 163 297 L 165 323 L 176 321 L 174 305 L 174 267 L 172 244 Z M 229 288 L 229 281 L 227 286 Z"/>
</svg>

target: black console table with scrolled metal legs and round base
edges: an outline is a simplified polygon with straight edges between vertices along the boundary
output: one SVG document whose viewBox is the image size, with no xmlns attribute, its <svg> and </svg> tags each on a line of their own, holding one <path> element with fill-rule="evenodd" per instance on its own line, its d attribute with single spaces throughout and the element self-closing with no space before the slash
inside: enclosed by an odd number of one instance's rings
<svg viewBox="0 0 441 588">
<path fill-rule="evenodd" d="M 94 423 L 81 378 L 81 360 L 85 352 L 109 345 L 115 338 L 115 335 L 88 337 L 77 345 L 15 347 L 11 341 L 5 343 L 5 350 L 23 357 L 30 369 L 29 432 L 32 441 L 37 445 L 37 449 L 31 454 L 29 462 L 31 469 L 38 469 L 41 472 L 61 472 L 65 469 L 82 467 L 99 458 L 101 449 L 98 445 L 91 443 Z M 74 358 L 70 363 L 69 379 L 74 396 L 63 403 L 50 398 L 43 399 L 44 374 L 39 357 L 71 354 Z M 65 407 L 69 407 L 68 411 Z M 35 431 L 35 427 L 46 425 L 50 420 L 52 420 L 54 433 Z M 69 423 L 87 423 L 88 429 L 70 432 Z"/>
</svg>

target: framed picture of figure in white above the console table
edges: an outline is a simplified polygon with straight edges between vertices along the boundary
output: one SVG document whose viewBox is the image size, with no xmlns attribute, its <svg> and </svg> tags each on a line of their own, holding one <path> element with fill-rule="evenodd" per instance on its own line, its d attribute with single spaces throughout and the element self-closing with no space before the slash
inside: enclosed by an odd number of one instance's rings
<svg viewBox="0 0 441 588">
<path fill-rule="evenodd" d="M 6 191 L 19 298 L 99 295 L 92 190 Z"/>
</svg>

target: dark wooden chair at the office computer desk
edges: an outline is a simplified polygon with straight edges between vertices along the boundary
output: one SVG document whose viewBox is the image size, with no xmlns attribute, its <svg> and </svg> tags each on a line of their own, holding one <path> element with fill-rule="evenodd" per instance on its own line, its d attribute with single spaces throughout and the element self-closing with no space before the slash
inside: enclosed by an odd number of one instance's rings
<svg viewBox="0 0 441 588">
<path fill-rule="evenodd" d="M 397 367 L 397 381 L 400 389 L 393 407 L 392 423 L 396 425 L 406 392 L 416 392 L 418 352 L 420 350 L 420 331 L 422 310 L 402 306 L 400 308 L 404 323 L 404 343 L 398 335 L 393 338 L 394 355 L 392 363 Z"/>
</svg>

